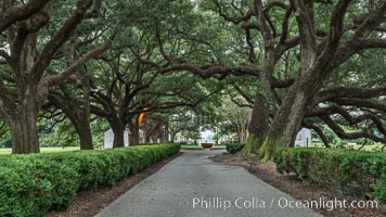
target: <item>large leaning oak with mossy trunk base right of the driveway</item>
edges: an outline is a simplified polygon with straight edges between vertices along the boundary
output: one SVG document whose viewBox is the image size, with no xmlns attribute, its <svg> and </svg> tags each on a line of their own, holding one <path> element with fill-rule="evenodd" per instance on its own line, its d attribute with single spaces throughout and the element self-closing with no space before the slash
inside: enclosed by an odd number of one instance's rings
<svg viewBox="0 0 386 217">
<path fill-rule="evenodd" d="M 282 99 L 278 112 L 274 114 L 269 131 L 262 133 L 265 138 L 263 142 L 260 142 L 260 140 L 252 144 L 261 146 L 260 156 L 266 159 L 272 157 L 276 146 L 291 146 L 294 144 L 296 133 L 304 122 L 307 111 L 317 110 L 313 106 L 325 100 L 318 98 L 318 94 L 330 92 L 333 95 L 342 94 L 345 98 L 352 97 L 359 99 L 383 94 L 384 87 L 358 89 L 348 87 L 324 88 L 324 85 L 325 80 L 356 53 L 365 49 L 385 48 L 386 43 L 382 38 L 386 10 L 385 1 L 377 1 L 376 3 L 373 1 L 337 1 L 335 3 L 333 1 L 292 0 L 290 2 L 262 2 L 255 0 L 248 11 L 243 16 L 236 18 L 228 16 L 221 10 L 218 1 L 215 1 L 215 4 L 222 17 L 234 24 L 240 24 L 246 29 L 246 40 L 249 43 L 249 31 L 257 30 L 261 34 L 265 60 L 260 67 L 260 79 L 265 84 L 266 100 L 273 101 L 274 99 L 272 80 L 274 80 L 278 62 L 286 51 L 299 47 L 297 48 L 299 51 L 297 54 L 299 63 L 297 73 L 293 77 L 294 80 L 291 81 L 293 84 L 286 84 L 291 85 L 291 87 Z M 364 7 L 364 10 L 355 10 L 358 7 Z M 272 15 L 278 10 L 282 11 L 281 18 Z M 327 22 L 325 22 L 324 14 L 320 15 L 321 10 L 329 12 L 330 18 Z M 256 23 L 252 20 L 253 17 L 256 17 Z M 291 28 L 296 28 L 296 30 L 291 31 Z M 253 46 L 249 47 L 252 48 L 250 51 L 253 51 Z M 356 97 L 347 94 L 352 91 L 357 91 Z M 256 95 L 255 107 L 260 106 L 261 108 L 254 110 L 255 114 L 256 112 L 265 111 L 261 105 L 266 104 L 259 102 L 259 93 Z M 340 99 L 339 101 L 344 103 L 345 100 Z M 351 99 L 346 99 L 346 104 L 349 104 L 351 101 Z M 366 103 L 362 103 L 363 106 L 365 106 L 364 104 Z M 346 116 L 350 120 L 350 116 Z M 320 118 L 340 136 L 346 135 L 347 138 L 369 137 L 375 141 L 385 143 L 383 138 L 369 133 L 347 136 L 330 117 L 321 115 Z M 356 122 L 360 122 L 362 118 L 372 118 L 374 123 L 377 123 L 376 125 L 379 126 L 378 128 L 382 131 L 381 123 L 377 118 L 373 116 L 360 116 Z"/>
</svg>

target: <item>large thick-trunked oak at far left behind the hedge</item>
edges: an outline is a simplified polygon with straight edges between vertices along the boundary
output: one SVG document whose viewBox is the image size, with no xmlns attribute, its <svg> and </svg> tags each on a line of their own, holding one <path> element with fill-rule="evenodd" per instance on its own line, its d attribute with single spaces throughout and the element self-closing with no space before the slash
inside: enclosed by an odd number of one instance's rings
<svg viewBox="0 0 386 217">
<path fill-rule="evenodd" d="M 0 16 L 4 20 L 1 18 L 0 112 L 11 131 L 13 153 L 39 152 L 36 123 L 48 89 L 68 80 L 87 61 L 111 46 L 107 42 L 89 51 L 59 73 L 46 73 L 77 26 L 94 17 L 100 5 L 99 1 L 77 1 L 70 7 L 69 16 L 54 25 L 57 28 L 50 36 L 44 27 L 54 11 L 46 10 L 47 2 L 28 1 L 20 5 L 14 1 L 1 2 Z"/>
</svg>

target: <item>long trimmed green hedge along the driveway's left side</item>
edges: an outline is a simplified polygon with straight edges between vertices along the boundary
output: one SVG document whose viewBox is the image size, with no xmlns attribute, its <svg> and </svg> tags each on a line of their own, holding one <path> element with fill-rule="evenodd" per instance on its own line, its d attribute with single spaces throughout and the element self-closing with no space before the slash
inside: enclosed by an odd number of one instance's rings
<svg viewBox="0 0 386 217">
<path fill-rule="evenodd" d="M 65 209 L 80 190 L 113 186 L 180 151 L 179 144 L 0 157 L 0 216 Z"/>
</svg>

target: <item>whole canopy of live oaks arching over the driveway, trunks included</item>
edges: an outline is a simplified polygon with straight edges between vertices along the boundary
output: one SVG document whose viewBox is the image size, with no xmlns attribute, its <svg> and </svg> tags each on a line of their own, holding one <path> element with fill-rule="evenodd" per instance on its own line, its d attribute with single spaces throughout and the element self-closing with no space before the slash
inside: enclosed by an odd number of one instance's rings
<svg viewBox="0 0 386 217">
<path fill-rule="evenodd" d="M 325 146 L 330 135 L 385 146 L 385 0 L 1 0 L 1 141 L 36 153 L 55 135 L 90 150 L 111 128 L 119 148 L 126 129 L 137 144 L 140 128 L 167 141 L 228 123 L 242 154 L 265 159 L 301 127 Z"/>
</svg>

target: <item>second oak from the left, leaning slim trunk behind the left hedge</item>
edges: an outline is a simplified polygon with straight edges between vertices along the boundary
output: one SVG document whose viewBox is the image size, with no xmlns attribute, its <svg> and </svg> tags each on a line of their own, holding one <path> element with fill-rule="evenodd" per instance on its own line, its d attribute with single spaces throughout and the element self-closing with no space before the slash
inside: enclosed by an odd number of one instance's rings
<svg viewBox="0 0 386 217">
<path fill-rule="evenodd" d="M 100 41 L 105 40 L 105 35 L 115 34 L 116 26 L 130 28 L 130 24 L 126 22 L 126 17 L 130 16 L 130 10 L 123 8 L 121 3 L 119 1 L 114 3 L 100 2 L 98 18 L 82 22 L 66 49 L 62 49 L 62 53 L 65 55 L 65 59 L 62 60 L 63 64 L 68 65 L 78 61 L 82 53 L 98 47 Z M 117 15 L 124 11 L 127 14 Z M 119 31 L 121 35 L 126 33 Z M 120 41 L 115 40 L 115 47 L 119 46 L 121 46 Z M 74 74 L 77 79 L 51 88 L 49 93 L 47 106 L 61 110 L 73 123 L 80 140 L 81 150 L 93 149 L 90 125 L 91 120 L 97 117 L 92 117 L 91 114 L 90 95 L 93 90 L 91 88 L 92 78 L 98 77 L 98 68 L 89 68 L 86 64 Z"/>
</svg>

